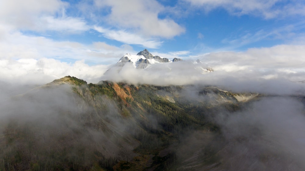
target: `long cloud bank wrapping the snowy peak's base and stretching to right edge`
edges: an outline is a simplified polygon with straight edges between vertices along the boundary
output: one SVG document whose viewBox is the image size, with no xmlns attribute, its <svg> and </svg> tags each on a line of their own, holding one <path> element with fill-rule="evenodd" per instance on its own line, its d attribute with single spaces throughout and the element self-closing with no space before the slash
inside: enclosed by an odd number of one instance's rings
<svg viewBox="0 0 305 171">
<path fill-rule="evenodd" d="M 161 63 L 144 70 L 127 63 L 123 68 L 111 68 L 102 79 L 133 84 L 216 85 L 235 92 L 304 94 L 305 85 L 296 83 L 305 80 L 304 49 L 302 45 L 279 45 L 210 53 L 196 56 L 202 63 Z M 214 72 L 206 72 L 206 68 L 213 68 Z"/>
</svg>

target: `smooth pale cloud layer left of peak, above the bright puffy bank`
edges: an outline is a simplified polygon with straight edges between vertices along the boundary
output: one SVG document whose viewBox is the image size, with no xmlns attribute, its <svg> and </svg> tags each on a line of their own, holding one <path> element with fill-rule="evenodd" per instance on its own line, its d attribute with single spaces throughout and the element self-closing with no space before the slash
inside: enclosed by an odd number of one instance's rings
<svg viewBox="0 0 305 171">
<path fill-rule="evenodd" d="M 47 37 L 27 36 L 18 31 L 0 27 L 0 58 L 56 58 L 65 61 L 86 60 L 90 63 L 113 63 L 125 53 L 133 52 L 132 47 L 116 47 L 105 42 L 81 44 L 73 41 L 55 41 Z"/>
</svg>

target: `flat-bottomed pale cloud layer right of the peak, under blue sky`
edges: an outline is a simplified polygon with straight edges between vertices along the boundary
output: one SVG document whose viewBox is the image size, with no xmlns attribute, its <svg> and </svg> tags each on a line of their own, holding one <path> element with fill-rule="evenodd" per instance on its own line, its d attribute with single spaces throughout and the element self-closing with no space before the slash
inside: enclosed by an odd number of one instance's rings
<svg viewBox="0 0 305 171">
<path fill-rule="evenodd" d="M 250 48 L 246 52 L 217 52 L 203 57 L 211 65 L 247 66 L 245 69 L 303 68 L 305 45 L 277 45 L 270 48 Z"/>
</svg>

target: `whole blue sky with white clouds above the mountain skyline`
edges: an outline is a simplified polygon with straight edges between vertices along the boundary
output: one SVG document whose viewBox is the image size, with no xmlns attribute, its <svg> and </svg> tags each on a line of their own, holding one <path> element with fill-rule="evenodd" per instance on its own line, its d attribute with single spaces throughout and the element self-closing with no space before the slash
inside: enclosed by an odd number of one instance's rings
<svg viewBox="0 0 305 171">
<path fill-rule="evenodd" d="M 301 0 L 2 0 L 0 80 L 98 82 L 124 54 L 200 59 L 219 72 L 303 81 Z M 234 73 L 235 74 L 235 73 Z M 248 77 L 248 76 L 246 76 Z"/>
</svg>

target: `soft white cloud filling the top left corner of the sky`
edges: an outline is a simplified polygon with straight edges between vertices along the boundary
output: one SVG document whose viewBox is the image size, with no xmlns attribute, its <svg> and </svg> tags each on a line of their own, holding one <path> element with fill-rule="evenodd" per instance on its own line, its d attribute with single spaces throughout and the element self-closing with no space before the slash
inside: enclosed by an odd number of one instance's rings
<svg viewBox="0 0 305 171">
<path fill-rule="evenodd" d="M 77 33 L 88 30 L 84 19 L 65 15 L 68 5 L 60 0 L 2 1 L 0 23 L 17 30 L 39 32 Z"/>
</svg>

